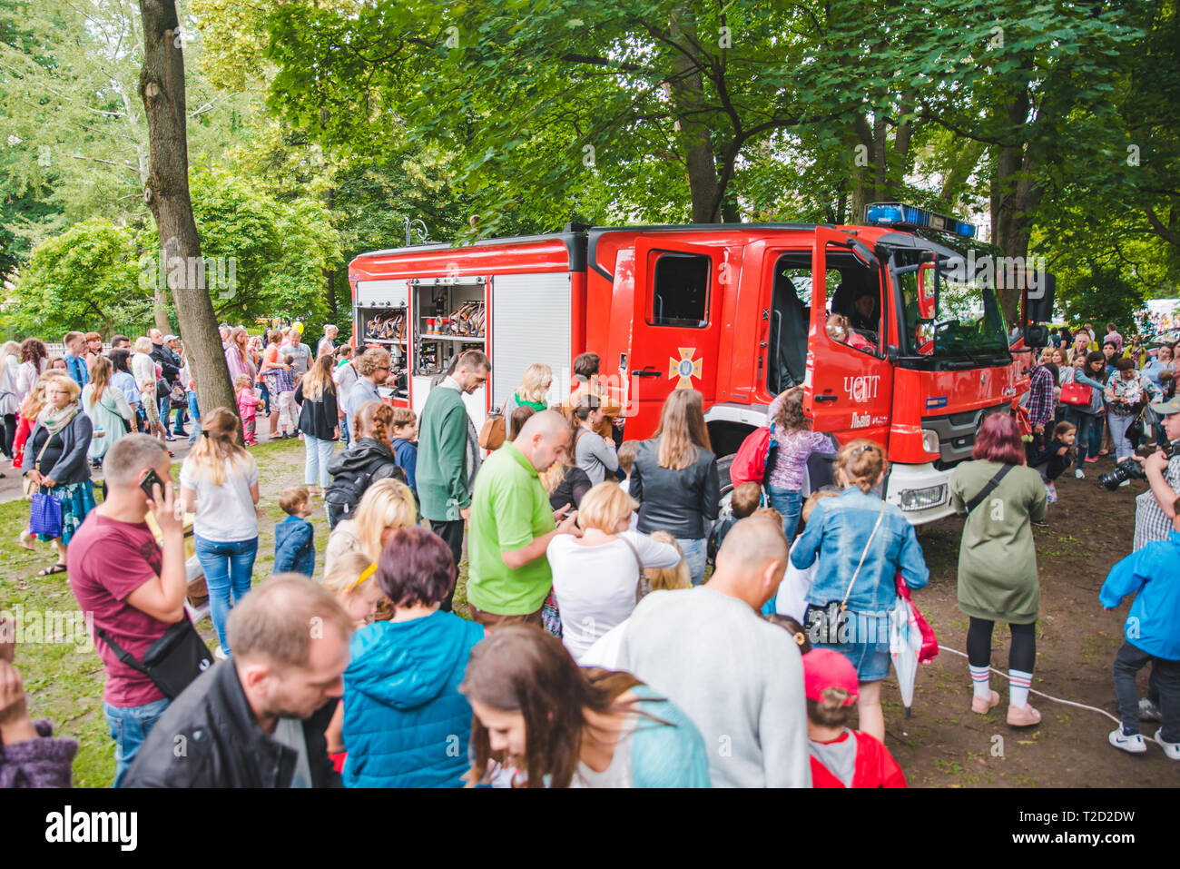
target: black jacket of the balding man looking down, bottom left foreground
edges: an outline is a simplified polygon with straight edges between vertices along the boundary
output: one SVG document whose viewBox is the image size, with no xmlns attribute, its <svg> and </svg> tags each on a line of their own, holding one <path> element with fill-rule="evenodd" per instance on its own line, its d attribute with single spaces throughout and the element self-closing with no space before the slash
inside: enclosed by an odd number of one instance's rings
<svg viewBox="0 0 1180 869">
<path fill-rule="evenodd" d="M 313 788 L 340 788 L 323 731 L 339 700 L 303 721 Z M 124 788 L 289 788 L 297 756 L 262 732 L 232 660 L 202 673 L 164 711 Z"/>
</svg>

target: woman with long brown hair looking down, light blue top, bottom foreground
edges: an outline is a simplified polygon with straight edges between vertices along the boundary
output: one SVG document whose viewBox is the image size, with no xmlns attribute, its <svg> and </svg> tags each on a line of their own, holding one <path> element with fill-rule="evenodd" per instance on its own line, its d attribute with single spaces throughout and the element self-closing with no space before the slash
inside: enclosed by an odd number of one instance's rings
<svg viewBox="0 0 1180 869">
<path fill-rule="evenodd" d="M 583 669 L 556 636 L 506 625 L 467 659 L 470 785 L 514 766 L 527 788 L 708 788 L 704 740 L 630 673 Z"/>
</svg>

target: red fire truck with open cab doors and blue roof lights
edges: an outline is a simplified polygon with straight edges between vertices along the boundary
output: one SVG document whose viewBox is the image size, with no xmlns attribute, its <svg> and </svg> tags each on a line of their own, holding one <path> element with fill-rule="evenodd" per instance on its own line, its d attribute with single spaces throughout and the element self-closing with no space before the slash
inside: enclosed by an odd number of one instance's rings
<svg viewBox="0 0 1180 869">
<path fill-rule="evenodd" d="M 929 522 L 950 512 L 951 469 L 982 419 L 1012 406 L 1027 362 L 1014 361 L 995 288 L 956 274 L 959 253 L 924 231 L 962 242 L 974 228 L 896 203 L 867 217 L 566 227 L 362 254 L 348 269 L 355 341 L 389 348 L 401 373 L 389 399 L 419 412 L 450 360 L 485 351 L 490 388 L 466 397 L 477 429 L 532 362 L 552 367 L 559 401 L 586 351 L 627 407 L 627 438 L 651 434 L 673 390 L 700 390 L 723 486 L 771 400 L 802 384 L 815 430 L 883 444 L 885 497 Z M 830 334 L 832 312 L 851 342 Z"/>
</svg>

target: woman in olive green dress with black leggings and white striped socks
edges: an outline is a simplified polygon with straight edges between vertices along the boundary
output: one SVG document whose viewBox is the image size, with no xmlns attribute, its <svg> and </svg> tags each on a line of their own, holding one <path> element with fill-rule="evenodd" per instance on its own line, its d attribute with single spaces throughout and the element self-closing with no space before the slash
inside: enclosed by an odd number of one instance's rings
<svg viewBox="0 0 1180 869">
<path fill-rule="evenodd" d="M 999 703 L 989 671 L 991 630 L 997 621 L 1004 621 L 1012 632 L 1008 724 L 1029 726 L 1041 721 L 1041 713 L 1029 705 L 1028 697 L 1041 606 L 1031 523 L 1044 520 L 1044 484 L 1036 471 L 1025 466 L 1024 443 L 1007 413 L 992 413 L 984 420 L 971 458 L 975 460 L 961 464 L 951 477 L 951 505 L 966 515 L 959 547 L 958 601 L 959 609 L 970 616 L 966 655 L 974 687 L 971 711 L 984 714 Z"/>
</svg>

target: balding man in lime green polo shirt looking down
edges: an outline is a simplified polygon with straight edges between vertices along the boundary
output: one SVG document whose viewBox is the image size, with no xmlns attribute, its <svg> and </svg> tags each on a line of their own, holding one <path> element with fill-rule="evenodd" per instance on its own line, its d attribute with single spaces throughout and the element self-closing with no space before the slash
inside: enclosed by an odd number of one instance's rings
<svg viewBox="0 0 1180 869">
<path fill-rule="evenodd" d="M 562 414 L 542 411 L 479 469 L 467 536 L 467 602 L 472 619 L 486 628 L 509 622 L 542 627 L 540 607 L 553 582 L 545 557 L 549 541 L 558 534 L 582 536 L 577 512 L 556 525 L 564 508 L 550 508 L 538 477 L 564 459 L 569 445 Z"/>
</svg>

